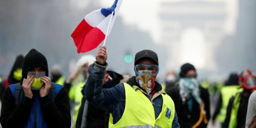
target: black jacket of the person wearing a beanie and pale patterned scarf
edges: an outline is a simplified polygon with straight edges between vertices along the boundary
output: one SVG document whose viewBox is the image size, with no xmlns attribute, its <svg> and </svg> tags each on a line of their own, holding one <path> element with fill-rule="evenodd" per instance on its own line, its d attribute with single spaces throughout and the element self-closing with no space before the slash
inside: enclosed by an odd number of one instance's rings
<svg viewBox="0 0 256 128">
<path fill-rule="evenodd" d="M 206 111 L 206 116 L 209 121 L 210 119 L 210 99 L 209 93 L 203 87 L 199 87 L 200 89 L 200 97 L 205 104 L 204 110 Z M 178 116 L 178 122 L 180 123 L 181 128 L 191 128 L 196 122 L 199 120 L 200 117 L 200 106 L 197 101 L 193 98 L 193 109 L 190 112 L 188 109 L 188 104 L 182 103 L 182 99 L 180 97 L 180 89 L 179 85 L 175 86 L 172 90 L 168 90 L 166 92 L 173 100 L 175 104 L 176 113 Z M 197 128 L 206 128 L 207 124 L 202 123 Z"/>
</svg>

